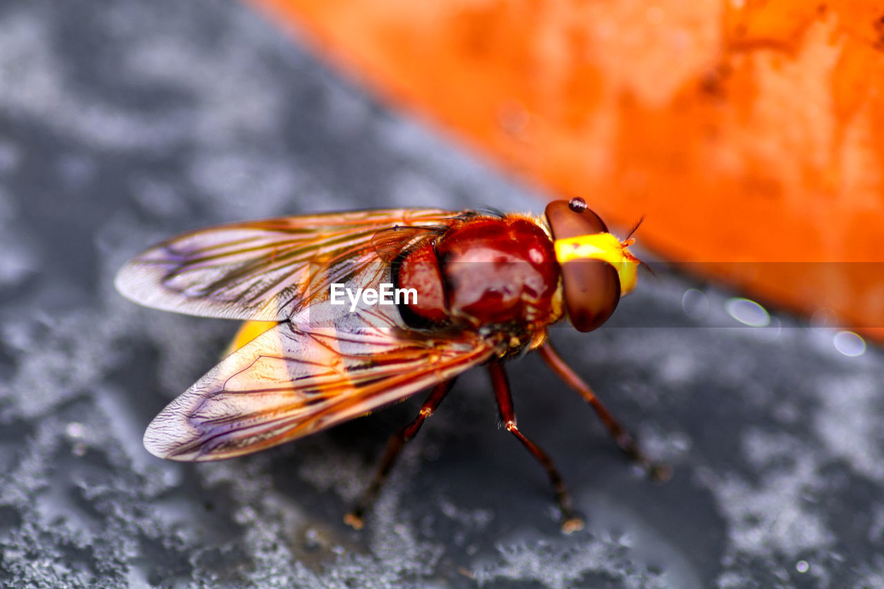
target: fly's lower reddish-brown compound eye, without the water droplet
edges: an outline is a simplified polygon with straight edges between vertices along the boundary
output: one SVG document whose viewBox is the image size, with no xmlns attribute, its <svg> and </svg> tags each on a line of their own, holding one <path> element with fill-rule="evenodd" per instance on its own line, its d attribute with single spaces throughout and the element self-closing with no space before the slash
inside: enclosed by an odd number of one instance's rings
<svg viewBox="0 0 884 589">
<path fill-rule="evenodd" d="M 561 282 L 568 319 L 577 331 L 601 327 L 620 302 L 620 276 L 606 261 L 567 261 Z"/>
</svg>

